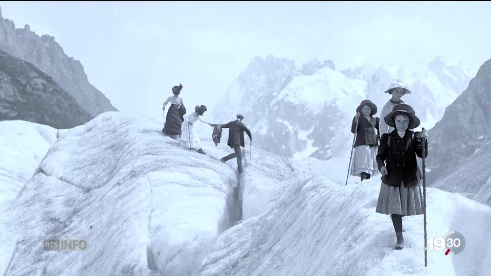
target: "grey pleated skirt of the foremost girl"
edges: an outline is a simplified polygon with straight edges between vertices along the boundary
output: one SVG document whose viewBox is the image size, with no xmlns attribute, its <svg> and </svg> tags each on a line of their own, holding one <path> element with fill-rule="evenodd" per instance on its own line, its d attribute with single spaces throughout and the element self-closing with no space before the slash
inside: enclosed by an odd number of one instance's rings
<svg viewBox="0 0 491 276">
<path fill-rule="evenodd" d="M 406 188 L 401 183 L 400 187 L 392 187 L 382 182 L 375 212 L 401 216 L 421 215 L 422 202 L 418 185 Z"/>
</svg>

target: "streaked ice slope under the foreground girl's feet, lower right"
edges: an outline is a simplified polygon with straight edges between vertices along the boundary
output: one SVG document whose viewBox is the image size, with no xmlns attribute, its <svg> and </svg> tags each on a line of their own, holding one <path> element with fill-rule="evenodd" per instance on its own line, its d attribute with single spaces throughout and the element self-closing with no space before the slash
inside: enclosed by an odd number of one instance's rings
<svg viewBox="0 0 491 276">
<path fill-rule="evenodd" d="M 199 275 L 487 275 L 491 269 L 491 208 L 429 188 L 428 237 L 458 231 L 458 255 L 428 251 L 423 216 L 403 218 L 405 248 L 387 215 L 375 213 L 380 180 L 339 186 L 299 174 L 269 212 L 222 233 Z"/>
</svg>

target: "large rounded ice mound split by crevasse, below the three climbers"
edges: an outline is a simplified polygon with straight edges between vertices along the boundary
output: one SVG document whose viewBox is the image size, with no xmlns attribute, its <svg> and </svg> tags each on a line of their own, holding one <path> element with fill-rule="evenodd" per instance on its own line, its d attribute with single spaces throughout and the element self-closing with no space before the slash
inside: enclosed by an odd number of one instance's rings
<svg viewBox="0 0 491 276">
<path fill-rule="evenodd" d="M 208 155 L 202 155 L 161 129 L 148 118 L 105 112 L 60 131 L 3 214 L 0 271 L 189 275 L 199 269 L 218 234 L 239 219 L 236 162 L 219 162 L 232 152 L 226 139 L 215 147 L 203 137 Z M 255 148 L 252 157 L 243 179 L 244 217 L 266 211 L 293 168 Z M 43 251 L 47 238 L 87 238 L 89 250 Z"/>
</svg>

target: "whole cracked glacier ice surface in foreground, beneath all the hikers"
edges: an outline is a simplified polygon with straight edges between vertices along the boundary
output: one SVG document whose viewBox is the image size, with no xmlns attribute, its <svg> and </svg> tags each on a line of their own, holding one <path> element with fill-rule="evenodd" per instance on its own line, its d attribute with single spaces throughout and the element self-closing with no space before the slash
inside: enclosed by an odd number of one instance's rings
<svg viewBox="0 0 491 276">
<path fill-rule="evenodd" d="M 2 213 L 0 271 L 486 275 L 491 269 L 490 206 L 428 188 L 428 237 L 458 231 L 465 248 L 454 256 L 428 251 L 425 268 L 423 216 L 403 218 L 405 248 L 394 250 L 389 217 L 375 213 L 380 177 L 345 186 L 342 166 L 299 164 L 255 147 L 251 154 L 249 145 L 239 177 L 235 159 L 219 161 L 232 152 L 226 135 L 215 146 L 210 128 L 202 155 L 161 129 L 145 117 L 106 112 L 72 129 L 41 131 L 53 145 L 46 156 L 39 153 L 34 174 Z M 88 250 L 43 250 L 42 240 L 52 238 L 87 239 Z"/>
</svg>

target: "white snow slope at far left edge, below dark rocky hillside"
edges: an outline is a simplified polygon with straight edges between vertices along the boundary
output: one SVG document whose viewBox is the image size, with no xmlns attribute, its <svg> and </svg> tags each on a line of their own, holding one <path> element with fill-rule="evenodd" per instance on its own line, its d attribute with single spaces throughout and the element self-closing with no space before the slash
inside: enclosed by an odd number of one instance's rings
<svg viewBox="0 0 491 276">
<path fill-rule="evenodd" d="M 0 121 L 0 213 L 5 211 L 57 139 L 57 129 Z"/>
</svg>

